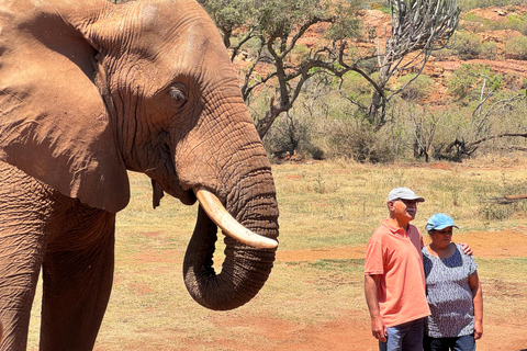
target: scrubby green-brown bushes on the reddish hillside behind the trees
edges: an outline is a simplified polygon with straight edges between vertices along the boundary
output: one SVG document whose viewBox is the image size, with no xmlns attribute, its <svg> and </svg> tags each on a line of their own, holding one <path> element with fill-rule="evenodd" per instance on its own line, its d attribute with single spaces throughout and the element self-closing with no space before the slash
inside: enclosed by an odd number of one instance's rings
<svg viewBox="0 0 527 351">
<path fill-rule="evenodd" d="M 513 12 L 512 5 L 519 2 L 503 4 Z M 480 5 L 483 1 L 460 2 L 467 10 Z M 388 4 L 370 2 L 362 7 L 385 10 Z M 511 15 L 507 22 L 495 23 L 463 12 L 461 19 L 456 41 L 448 48 L 431 52 L 434 59 L 527 59 L 527 16 Z M 366 31 L 363 25 L 361 29 Z M 492 41 L 482 42 L 478 35 L 497 30 L 519 33 L 505 38 L 500 47 Z M 362 32 L 362 37 L 366 36 Z M 362 64 L 363 70 L 377 79 L 377 60 Z M 431 100 L 439 84 L 447 87 L 446 93 Z M 484 65 L 462 65 L 441 79 L 416 75 L 415 70 L 403 71 L 386 83 L 386 91 L 401 87 L 405 88 L 386 105 L 385 123 L 379 125 L 360 107 L 374 93 L 361 75 L 350 71 L 341 78 L 313 77 L 304 84 L 304 93 L 294 106 L 265 136 L 266 148 L 271 158 L 278 159 L 344 157 L 369 162 L 460 161 L 490 154 L 527 151 L 526 79 Z M 268 109 L 273 91 L 272 87 L 262 89 L 258 99 L 249 102 L 255 118 Z"/>
</svg>

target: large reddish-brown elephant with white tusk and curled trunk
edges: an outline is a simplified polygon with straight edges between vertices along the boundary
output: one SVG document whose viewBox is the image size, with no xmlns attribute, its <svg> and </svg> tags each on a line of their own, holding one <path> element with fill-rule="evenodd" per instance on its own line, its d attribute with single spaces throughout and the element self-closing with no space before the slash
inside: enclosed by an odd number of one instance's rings
<svg viewBox="0 0 527 351">
<path fill-rule="evenodd" d="M 273 267 L 271 165 L 215 24 L 193 0 L 0 3 L 1 350 L 92 350 L 128 172 L 199 203 L 183 280 L 202 306 L 249 302 Z M 218 228 L 225 261 L 214 271 Z"/>
</svg>

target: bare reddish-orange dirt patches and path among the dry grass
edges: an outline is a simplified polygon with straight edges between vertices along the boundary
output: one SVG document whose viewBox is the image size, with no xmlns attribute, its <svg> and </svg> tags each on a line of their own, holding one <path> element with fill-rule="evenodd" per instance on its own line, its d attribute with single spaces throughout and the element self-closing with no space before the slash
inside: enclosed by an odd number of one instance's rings
<svg viewBox="0 0 527 351">
<path fill-rule="evenodd" d="M 464 234 L 462 239 L 468 242 L 479 258 L 508 258 L 525 257 L 527 252 L 527 226 L 514 230 L 492 233 L 489 231 Z M 453 238 L 456 240 L 456 238 Z M 496 245 L 497 242 L 497 245 Z M 365 248 L 346 248 L 329 250 L 299 250 L 279 251 L 277 260 L 287 262 L 315 261 L 318 259 L 363 258 Z M 484 293 L 484 291 L 483 291 Z M 527 296 L 523 293 L 524 296 Z M 525 309 L 524 309 L 525 310 Z M 527 337 L 525 336 L 525 320 L 527 315 L 517 315 L 514 319 L 486 316 L 484 318 L 484 336 L 478 342 L 479 351 L 527 351 Z M 237 315 L 218 317 L 218 325 L 245 326 L 248 332 L 269 335 L 274 340 L 282 340 L 277 347 L 253 346 L 251 350 L 294 350 L 294 351 L 346 351 L 346 350 L 378 350 L 377 342 L 371 337 L 369 318 L 365 313 L 343 310 L 340 317 L 326 325 L 298 326 L 279 319 L 266 317 L 248 318 Z M 197 344 L 186 344 L 189 350 L 208 347 L 206 343 L 195 340 Z M 247 344 L 240 340 L 222 340 L 210 346 L 211 350 L 247 350 Z"/>
</svg>

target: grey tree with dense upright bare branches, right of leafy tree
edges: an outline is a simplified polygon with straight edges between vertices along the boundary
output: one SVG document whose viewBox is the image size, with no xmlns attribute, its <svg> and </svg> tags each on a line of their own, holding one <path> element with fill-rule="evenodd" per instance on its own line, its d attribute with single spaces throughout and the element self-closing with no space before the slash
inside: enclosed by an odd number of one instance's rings
<svg viewBox="0 0 527 351">
<path fill-rule="evenodd" d="M 378 45 L 378 78 L 361 73 L 373 86 L 369 106 L 360 106 L 371 124 L 384 125 L 388 102 L 412 83 L 423 71 L 431 52 L 448 47 L 461 12 L 457 0 L 391 0 L 391 35 L 384 49 Z M 416 75 L 395 91 L 386 88 L 392 77 L 414 71 Z"/>
</svg>

